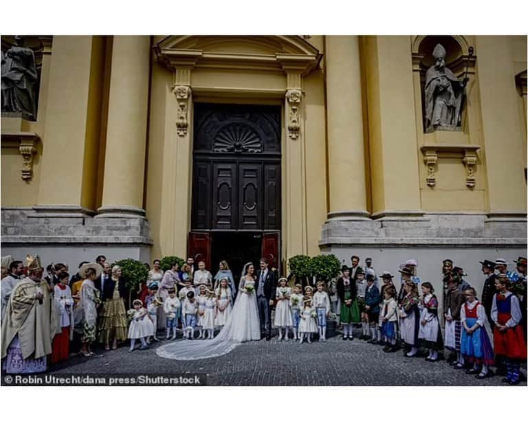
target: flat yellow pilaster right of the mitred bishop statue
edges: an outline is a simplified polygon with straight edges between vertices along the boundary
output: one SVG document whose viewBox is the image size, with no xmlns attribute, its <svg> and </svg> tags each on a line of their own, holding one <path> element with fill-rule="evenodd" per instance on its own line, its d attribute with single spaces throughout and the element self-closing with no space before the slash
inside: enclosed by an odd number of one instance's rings
<svg viewBox="0 0 528 422">
<path fill-rule="evenodd" d="M 525 168 L 523 157 L 516 153 L 520 151 L 524 122 L 518 113 L 510 42 L 507 36 L 477 36 L 476 76 L 487 161 L 488 215 L 495 219 L 522 217 L 525 222 Z"/>
</svg>

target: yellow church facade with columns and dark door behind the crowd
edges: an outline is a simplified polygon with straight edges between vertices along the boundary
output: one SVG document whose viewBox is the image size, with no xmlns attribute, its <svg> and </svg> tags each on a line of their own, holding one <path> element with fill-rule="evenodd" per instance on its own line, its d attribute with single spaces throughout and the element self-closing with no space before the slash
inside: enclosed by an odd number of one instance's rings
<svg viewBox="0 0 528 422">
<path fill-rule="evenodd" d="M 454 129 L 428 131 L 438 44 L 467 84 Z M 525 36 L 28 45 L 36 119 L 1 118 L 3 255 L 264 255 L 287 273 L 294 255 L 356 254 L 393 274 L 416 258 L 431 280 L 452 258 L 472 285 L 478 260 L 525 256 Z"/>
</svg>

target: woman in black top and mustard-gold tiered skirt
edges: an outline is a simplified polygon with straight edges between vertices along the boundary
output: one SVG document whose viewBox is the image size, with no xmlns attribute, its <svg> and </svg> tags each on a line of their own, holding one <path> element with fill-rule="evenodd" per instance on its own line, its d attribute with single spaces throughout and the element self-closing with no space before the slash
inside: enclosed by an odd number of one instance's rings
<svg viewBox="0 0 528 422">
<path fill-rule="evenodd" d="M 116 349 L 118 342 L 124 342 L 128 334 L 128 321 L 124 307 L 124 299 L 128 296 L 128 291 L 121 274 L 121 267 L 114 265 L 112 276 L 104 283 L 102 291 L 103 309 L 100 316 L 98 340 L 104 343 L 104 349 L 107 351 L 110 350 L 110 340 L 113 340 L 112 349 Z"/>
</svg>

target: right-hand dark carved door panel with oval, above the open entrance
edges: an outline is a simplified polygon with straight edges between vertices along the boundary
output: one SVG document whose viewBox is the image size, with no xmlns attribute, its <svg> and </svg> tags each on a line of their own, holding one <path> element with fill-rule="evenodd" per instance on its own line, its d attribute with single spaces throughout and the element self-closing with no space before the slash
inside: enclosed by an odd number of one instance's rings
<svg viewBox="0 0 528 422">
<path fill-rule="evenodd" d="M 261 230 L 262 221 L 262 165 L 239 165 L 239 225 L 241 230 Z"/>
</svg>

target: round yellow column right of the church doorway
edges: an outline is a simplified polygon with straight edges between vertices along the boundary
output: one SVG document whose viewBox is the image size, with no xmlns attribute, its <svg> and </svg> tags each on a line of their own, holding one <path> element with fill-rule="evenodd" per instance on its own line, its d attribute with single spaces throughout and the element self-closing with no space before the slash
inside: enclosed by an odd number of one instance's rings
<svg viewBox="0 0 528 422">
<path fill-rule="evenodd" d="M 358 36 L 327 36 L 329 219 L 365 218 L 362 83 Z"/>
</svg>

